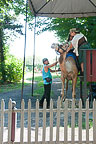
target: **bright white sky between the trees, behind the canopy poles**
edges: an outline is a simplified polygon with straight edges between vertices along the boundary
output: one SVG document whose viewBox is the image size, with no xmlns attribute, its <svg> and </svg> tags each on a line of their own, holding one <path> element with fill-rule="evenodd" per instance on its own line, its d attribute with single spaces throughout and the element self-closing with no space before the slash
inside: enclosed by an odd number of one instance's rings
<svg viewBox="0 0 96 144">
<path fill-rule="evenodd" d="M 27 41 L 26 41 L 26 57 L 33 57 L 34 49 L 34 32 L 27 31 Z M 23 58 L 24 56 L 24 40 L 25 36 L 20 36 L 12 42 L 10 46 L 10 54 L 18 58 Z M 47 57 L 50 61 L 56 58 L 56 52 L 51 48 L 52 43 L 58 42 L 57 38 L 54 36 L 53 32 L 43 32 L 40 35 L 35 36 L 35 57 L 40 57 L 41 59 Z"/>
</svg>

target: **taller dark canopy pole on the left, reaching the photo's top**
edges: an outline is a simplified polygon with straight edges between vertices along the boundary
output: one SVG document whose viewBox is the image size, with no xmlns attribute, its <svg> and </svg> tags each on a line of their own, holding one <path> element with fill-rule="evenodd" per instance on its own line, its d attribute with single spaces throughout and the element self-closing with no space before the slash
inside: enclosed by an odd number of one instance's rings
<svg viewBox="0 0 96 144">
<path fill-rule="evenodd" d="M 28 10 L 28 0 L 26 0 L 25 43 L 24 43 L 24 60 L 23 60 L 23 77 L 22 77 L 21 100 L 23 99 L 23 89 L 24 89 L 25 53 L 26 53 L 26 31 L 27 31 L 27 10 Z"/>
</svg>

